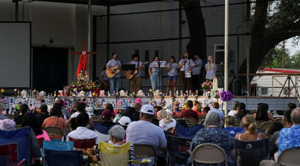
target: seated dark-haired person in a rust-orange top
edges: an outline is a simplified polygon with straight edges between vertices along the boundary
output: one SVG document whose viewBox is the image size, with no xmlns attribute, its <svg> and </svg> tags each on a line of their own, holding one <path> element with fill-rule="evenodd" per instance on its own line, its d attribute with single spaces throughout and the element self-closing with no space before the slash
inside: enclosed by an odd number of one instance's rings
<svg viewBox="0 0 300 166">
<path fill-rule="evenodd" d="M 42 123 L 42 128 L 48 127 L 48 126 L 56 126 L 59 127 L 62 131 L 66 127 L 65 122 L 62 118 L 57 117 L 58 111 L 55 108 L 50 109 L 50 118 L 47 118 Z M 56 135 L 56 136 L 49 136 L 51 141 L 61 141 L 62 135 Z"/>
</svg>

